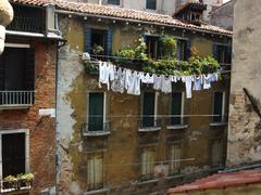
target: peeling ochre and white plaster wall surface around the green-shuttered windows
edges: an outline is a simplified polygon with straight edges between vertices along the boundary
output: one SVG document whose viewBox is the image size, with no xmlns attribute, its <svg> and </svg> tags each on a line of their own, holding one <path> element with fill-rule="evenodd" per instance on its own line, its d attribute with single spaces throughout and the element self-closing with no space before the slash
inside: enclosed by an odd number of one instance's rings
<svg viewBox="0 0 261 195">
<path fill-rule="evenodd" d="M 73 24 L 70 27 L 67 24 Z M 88 18 L 87 24 L 96 27 L 107 28 L 111 23 Z M 105 88 L 98 88 L 98 76 L 90 76 L 85 73 L 80 54 L 80 46 L 84 42 L 83 27 L 76 18 L 61 17 L 60 27 L 67 43 L 59 52 L 58 74 L 58 184 L 61 194 L 83 194 L 87 191 L 87 158 L 95 152 L 103 152 L 105 186 L 111 194 L 148 194 L 161 192 L 173 184 L 182 183 L 197 173 L 183 178 L 159 178 L 156 183 L 139 183 L 140 176 L 140 152 L 148 145 L 156 148 L 156 161 L 167 160 L 169 146 L 171 142 L 181 142 L 183 148 L 182 158 L 192 158 L 191 161 L 182 164 L 183 173 L 195 171 L 208 172 L 210 168 L 210 143 L 213 138 L 224 138 L 226 127 L 210 128 L 212 113 L 212 94 L 214 90 L 227 91 L 227 86 L 216 83 L 209 91 L 195 92 L 191 100 L 185 101 L 185 114 L 195 115 L 189 117 L 189 127 L 184 130 L 166 130 L 165 120 L 160 132 L 138 132 L 137 115 L 140 115 L 140 96 L 119 94 L 107 91 Z M 142 28 L 137 25 L 114 24 L 113 28 L 113 51 L 119 48 L 133 44 L 142 34 Z M 146 27 L 148 30 L 150 27 Z M 82 30 L 82 31 L 80 31 Z M 77 31 L 77 39 L 71 38 Z M 152 30 L 151 30 L 152 31 Z M 161 31 L 153 31 L 161 34 Z M 176 32 L 176 36 L 184 36 Z M 196 37 L 196 36 L 195 36 Z M 192 40 L 195 47 L 200 47 L 200 54 L 211 54 L 212 44 L 209 38 L 198 35 Z M 202 42 L 202 46 L 201 46 Z M 209 46 L 210 44 L 210 46 Z M 202 47 L 202 48 L 201 48 Z M 151 89 L 151 88 L 148 88 Z M 176 90 L 184 91 L 184 86 L 176 86 Z M 142 90 L 146 90 L 145 88 Z M 87 93 L 89 91 L 105 91 L 107 94 L 107 117 L 111 123 L 111 134 L 104 138 L 83 138 L 80 127 L 87 119 Z M 169 115 L 170 95 L 159 94 L 159 115 Z M 115 117 L 116 116 L 116 117 Z M 202 156 L 202 154 L 206 154 Z M 224 156 L 225 157 L 225 156 Z M 110 166 L 108 166 L 110 165 Z M 157 164 L 156 171 L 163 169 L 167 172 L 167 164 Z M 206 173 L 204 172 L 204 173 Z"/>
</svg>

